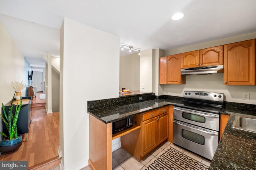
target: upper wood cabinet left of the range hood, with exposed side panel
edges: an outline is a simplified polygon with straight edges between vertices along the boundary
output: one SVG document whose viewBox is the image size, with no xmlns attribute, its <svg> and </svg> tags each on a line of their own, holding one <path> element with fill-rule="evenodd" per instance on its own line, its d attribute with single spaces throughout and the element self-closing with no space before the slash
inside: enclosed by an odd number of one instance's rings
<svg viewBox="0 0 256 170">
<path fill-rule="evenodd" d="M 181 54 L 160 57 L 159 84 L 185 84 L 186 77 L 181 75 Z"/>
</svg>

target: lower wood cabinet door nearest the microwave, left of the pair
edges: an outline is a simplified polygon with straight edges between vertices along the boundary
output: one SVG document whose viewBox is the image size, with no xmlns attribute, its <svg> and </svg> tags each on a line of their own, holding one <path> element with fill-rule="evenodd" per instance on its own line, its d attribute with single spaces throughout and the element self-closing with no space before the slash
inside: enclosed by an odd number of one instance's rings
<svg viewBox="0 0 256 170">
<path fill-rule="evenodd" d="M 143 122 L 143 156 L 157 146 L 157 117 Z"/>
</svg>

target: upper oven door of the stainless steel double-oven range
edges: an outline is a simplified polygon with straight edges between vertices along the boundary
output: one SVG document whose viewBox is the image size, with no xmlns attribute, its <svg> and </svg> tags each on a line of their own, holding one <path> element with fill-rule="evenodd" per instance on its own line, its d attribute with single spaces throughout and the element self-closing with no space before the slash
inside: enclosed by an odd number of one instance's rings
<svg viewBox="0 0 256 170">
<path fill-rule="evenodd" d="M 173 119 L 219 131 L 219 115 L 175 107 Z"/>
</svg>

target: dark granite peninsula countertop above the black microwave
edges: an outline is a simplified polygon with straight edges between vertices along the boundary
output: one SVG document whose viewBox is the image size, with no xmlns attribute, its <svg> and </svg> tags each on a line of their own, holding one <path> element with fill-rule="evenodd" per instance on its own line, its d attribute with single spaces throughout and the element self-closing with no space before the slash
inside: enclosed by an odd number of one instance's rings
<svg viewBox="0 0 256 170">
<path fill-rule="evenodd" d="M 104 109 L 90 110 L 87 111 L 87 113 L 96 117 L 104 123 L 111 123 L 129 116 L 138 115 L 140 113 L 151 111 L 159 107 L 175 105 L 177 103 L 180 103 L 181 101 L 182 100 L 179 99 L 154 99 L 150 101 L 143 101 L 129 105 L 121 105 Z"/>
</svg>

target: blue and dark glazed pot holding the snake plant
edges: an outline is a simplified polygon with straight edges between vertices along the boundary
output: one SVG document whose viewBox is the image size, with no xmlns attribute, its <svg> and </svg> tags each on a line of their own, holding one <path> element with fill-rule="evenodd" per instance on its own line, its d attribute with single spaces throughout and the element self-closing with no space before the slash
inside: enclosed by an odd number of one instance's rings
<svg viewBox="0 0 256 170">
<path fill-rule="evenodd" d="M 22 144 L 22 136 L 18 136 L 18 138 L 12 140 L 3 140 L 3 138 L 0 142 L 0 152 L 2 154 L 9 154 L 16 151 Z"/>
</svg>

